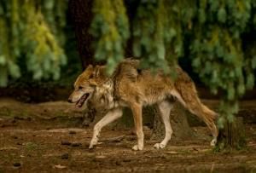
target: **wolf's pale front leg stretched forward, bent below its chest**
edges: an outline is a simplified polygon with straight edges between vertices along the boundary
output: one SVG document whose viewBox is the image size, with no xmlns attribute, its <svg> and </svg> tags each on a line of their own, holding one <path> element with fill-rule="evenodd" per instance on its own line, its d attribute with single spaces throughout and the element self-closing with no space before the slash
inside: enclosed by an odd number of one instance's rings
<svg viewBox="0 0 256 173">
<path fill-rule="evenodd" d="M 93 148 L 93 146 L 95 146 L 97 144 L 102 128 L 104 126 L 112 123 L 114 120 L 122 117 L 122 114 L 123 114 L 123 111 L 120 108 L 114 108 L 114 109 L 108 111 L 108 113 L 94 126 L 93 136 L 90 141 L 89 148 Z"/>
</svg>

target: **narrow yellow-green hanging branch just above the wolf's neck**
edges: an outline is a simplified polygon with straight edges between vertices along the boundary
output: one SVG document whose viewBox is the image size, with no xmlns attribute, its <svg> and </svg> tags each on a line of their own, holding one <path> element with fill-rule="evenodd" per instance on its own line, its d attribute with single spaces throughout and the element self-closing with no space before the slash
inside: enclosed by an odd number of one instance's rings
<svg viewBox="0 0 256 173">
<path fill-rule="evenodd" d="M 96 38 L 96 60 L 108 61 L 108 73 L 124 58 L 129 22 L 122 0 L 95 0 L 91 34 Z"/>
</svg>

